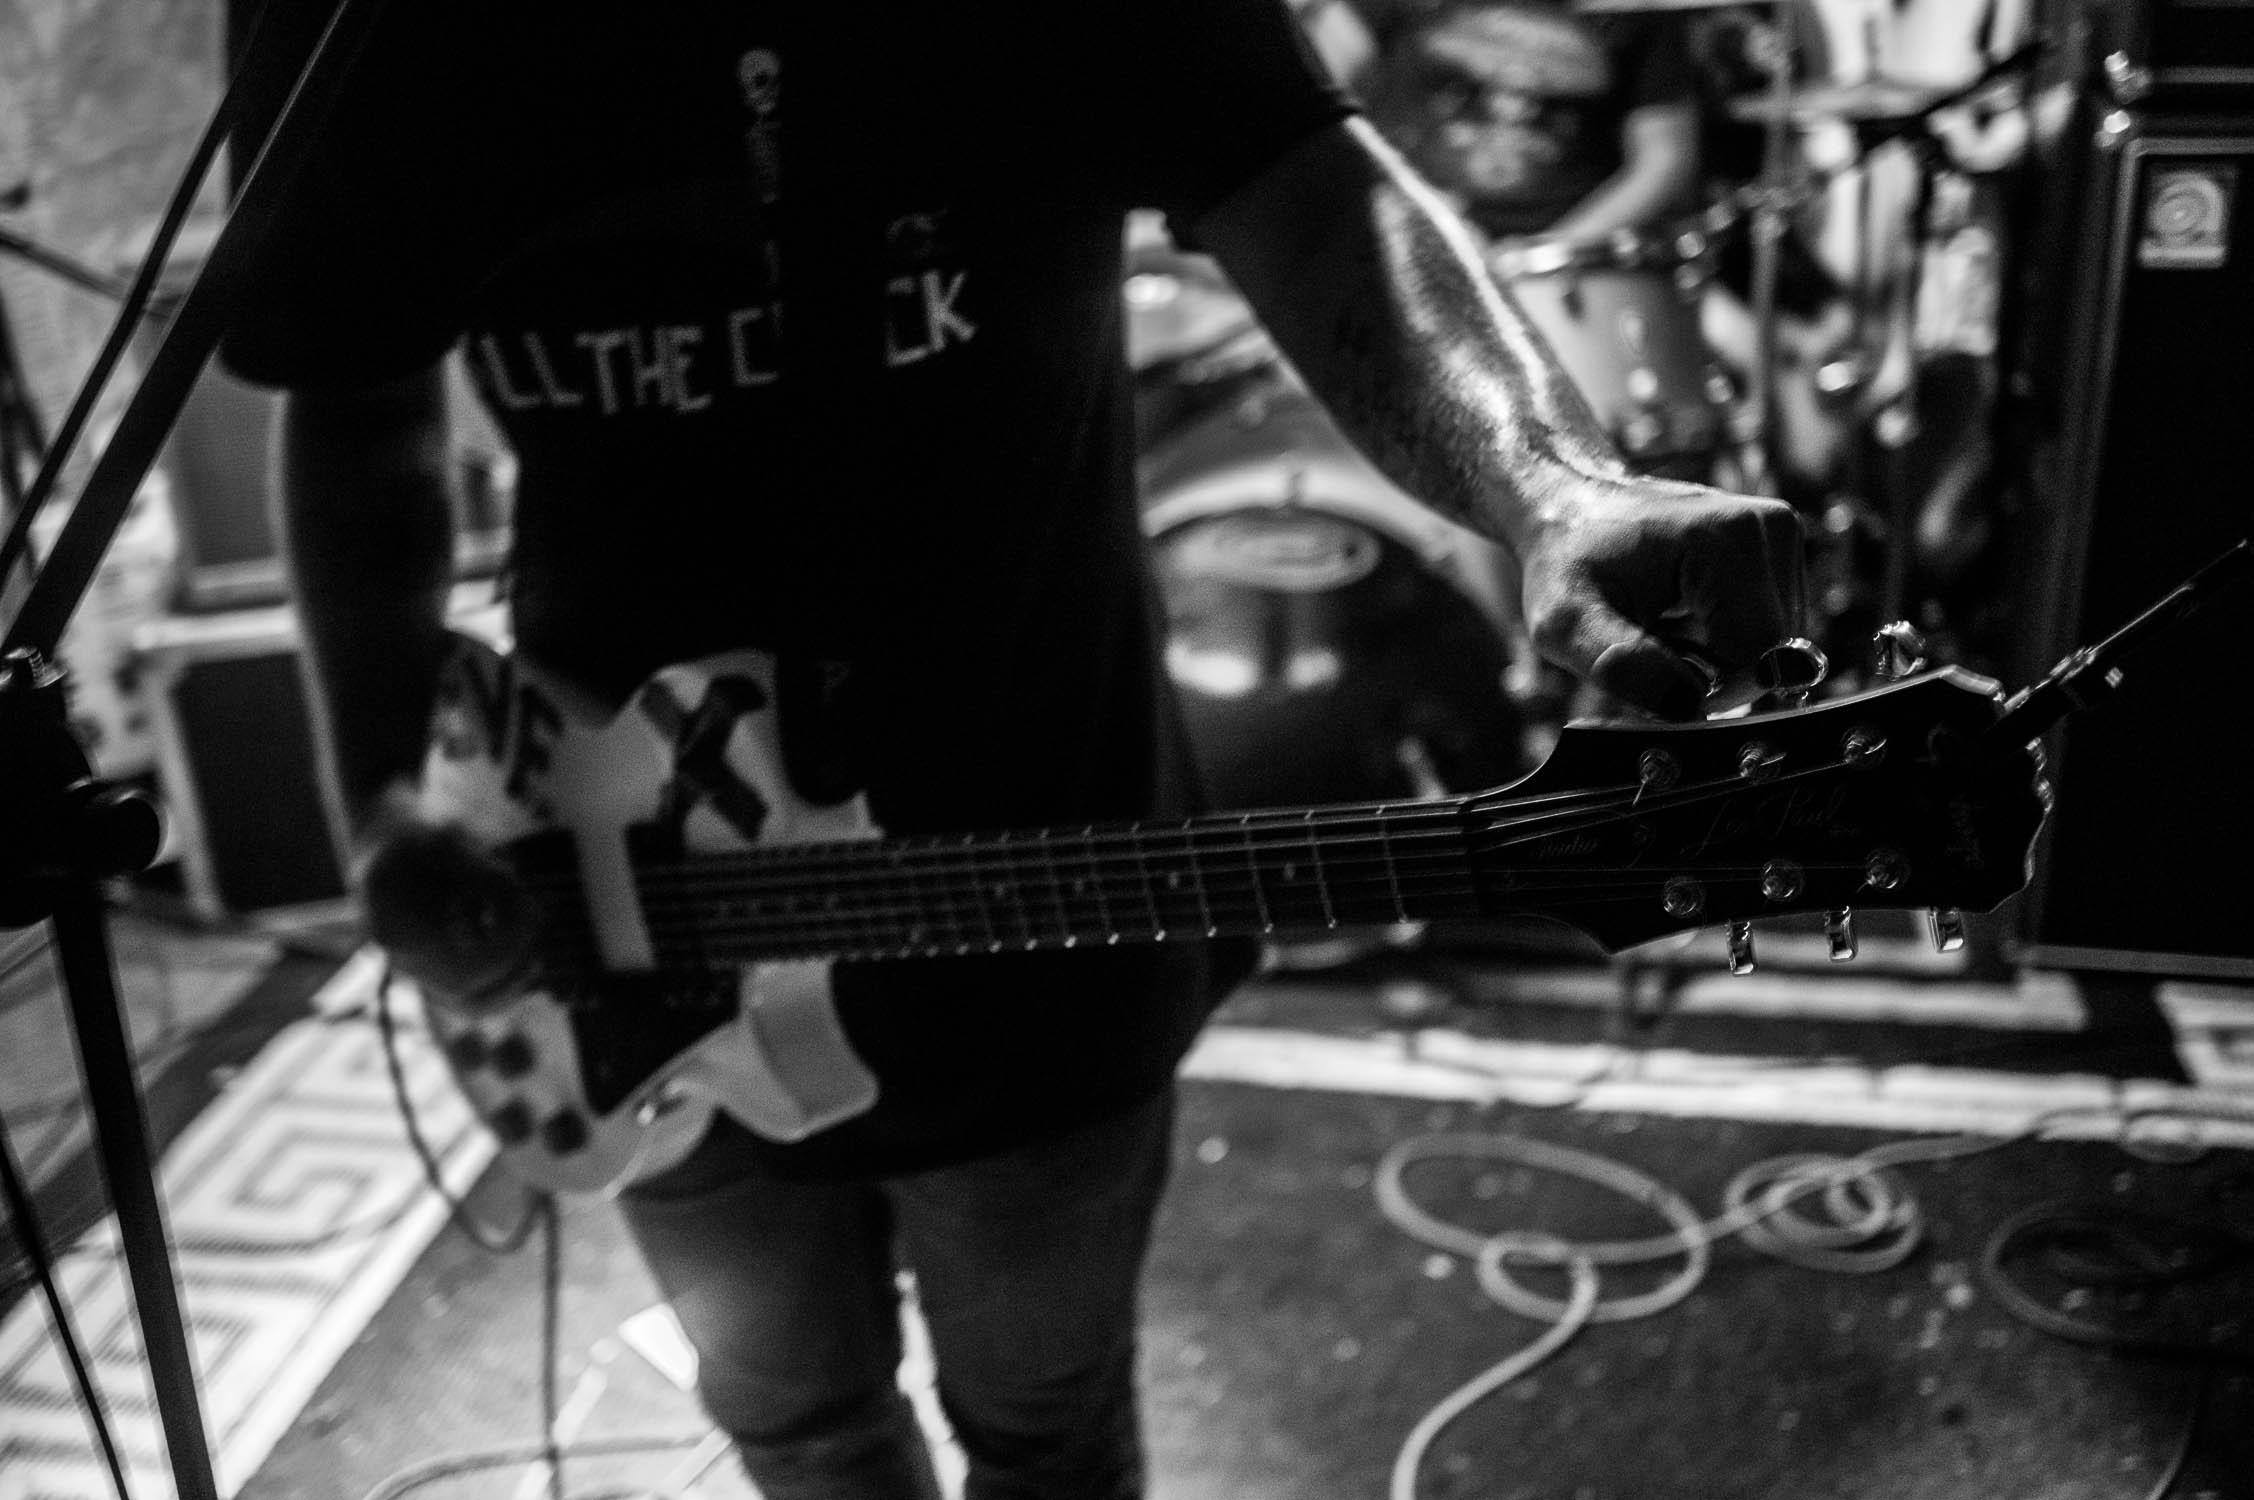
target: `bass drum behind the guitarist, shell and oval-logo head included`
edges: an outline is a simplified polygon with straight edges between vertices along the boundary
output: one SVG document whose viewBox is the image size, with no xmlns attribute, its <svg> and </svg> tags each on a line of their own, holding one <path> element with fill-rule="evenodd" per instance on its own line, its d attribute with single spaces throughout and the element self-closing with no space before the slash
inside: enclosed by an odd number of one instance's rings
<svg viewBox="0 0 2254 1500">
<path fill-rule="evenodd" d="M 1143 465 L 1165 665 L 1217 808 L 1474 792 L 1528 769 L 1497 548 L 1276 381 Z"/>
</svg>

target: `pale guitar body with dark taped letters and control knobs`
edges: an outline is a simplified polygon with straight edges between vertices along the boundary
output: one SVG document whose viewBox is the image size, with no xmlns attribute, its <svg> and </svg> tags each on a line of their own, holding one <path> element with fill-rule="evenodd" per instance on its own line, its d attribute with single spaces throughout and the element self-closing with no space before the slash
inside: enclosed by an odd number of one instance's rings
<svg viewBox="0 0 2254 1500">
<path fill-rule="evenodd" d="M 651 677 L 611 713 L 536 665 L 460 641 L 421 776 L 426 814 L 518 855 L 543 909 L 541 979 L 428 1006 L 455 1083 L 525 1182 L 613 1191 L 672 1166 L 712 1110 L 780 1141 L 861 1114 L 829 963 L 708 963 L 656 929 L 636 853 L 872 839 L 857 796 L 811 805 L 784 771 L 775 661 L 730 652 Z"/>
</svg>

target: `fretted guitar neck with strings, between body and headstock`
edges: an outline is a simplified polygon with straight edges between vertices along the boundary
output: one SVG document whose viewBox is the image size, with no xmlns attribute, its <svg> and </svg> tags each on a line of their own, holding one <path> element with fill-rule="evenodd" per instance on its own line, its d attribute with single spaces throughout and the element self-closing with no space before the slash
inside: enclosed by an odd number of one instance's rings
<svg viewBox="0 0 2254 1500">
<path fill-rule="evenodd" d="M 1165 943 L 1474 916 L 1461 810 L 1285 808 L 638 857 L 636 868 L 660 954 L 681 934 L 706 963 Z"/>
</svg>

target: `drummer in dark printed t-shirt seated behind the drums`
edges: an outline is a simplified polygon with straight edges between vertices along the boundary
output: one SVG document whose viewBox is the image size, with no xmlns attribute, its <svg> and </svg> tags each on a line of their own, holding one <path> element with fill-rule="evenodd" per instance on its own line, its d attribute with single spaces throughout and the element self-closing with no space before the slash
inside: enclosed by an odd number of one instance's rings
<svg viewBox="0 0 2254 1500">
<path fill-rule="evenodd" d="M 1368 9 L 1370 117 L 1490 239 L 1589 241 L 1697 205 L 1700 124 L 1679 27 L 1564 0 Z"/>
</svg>

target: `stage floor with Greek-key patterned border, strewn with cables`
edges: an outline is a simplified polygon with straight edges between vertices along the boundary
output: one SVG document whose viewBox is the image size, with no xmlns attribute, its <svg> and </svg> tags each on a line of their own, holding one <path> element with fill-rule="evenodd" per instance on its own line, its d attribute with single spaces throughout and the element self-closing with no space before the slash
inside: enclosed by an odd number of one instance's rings
<svg viewBox="0 0 2254 1500">
<path fill-rule="evenodd" d="M 2254 1234 L 2254 997 L 2060 974 L 1972 981 L 1909 945 L 1880 945 L 1853 970 L 1794 956 L 1778 945 L 1765 972 L 1731 979 L 1697 945 L 1636 974 L 1379 954 L 1240 992 L 1188 1067 L 1147 1281 L 1154 1498 L 1382 1495 L 1418 1421 L 1542 1335 L 1483 1295 L 1467 1256 L 1386 1220 L 1375 1180 L 1409 1141 L 1591 1150 L 1711 1214 L 1729 1177 L 1765 1157 L 1956 1130 L 2002 1141 L 2047 1110 L 2121 1108 L 2231 1123 L 2193 1159 L 2164 1150 L 2173 1135 L 2148 1117 L 2141 1155 L 2020 1141 L 1905 1166 L 1925 1238 L 1875 1274 L 1724 1241 L 1679 1306 L 1585 1329 L 1476 1401 L 1434 1441 L 1418 1495 L 2137 1500 L 2186 1432 L 2171 1495 L 2254 1495 L 2254 1270 L 2137 1304 L 2038 1277 L 2083 1317 L 2218 1342 L 2236 1365 L 2211 1374 L 2042 1333 L 1979 1270 L 2006 1218 L 2053 1200 L 2195 1209 Z M 399 1139 L 370 990 L 372 965 L 338 970 L 313 1020 L 273 1031 L 167 1150 L 223 1489 L 534 1500 L 539 1247 L 491 1256 L 446 1229 Z M 489 1148 L 433 1058 L 410 1047 L 408 1071 L 449 1180 L 507 1218 L 514 1189 L 487 1171 Z M 2085 1132 L 2112 1128 L 2098 1119 L 2083 1117 Z M 1506 1159 L 1431 1162 L 1406 1182 L 1479 1232 L 1661 1227 Z M 694 1398 L 663 1369 L 663 1311 L 615 1214 L 570 1205 L 561 1234 L 568 1493 L 753 1493 L 712 1462 Z M 304 1245 L 248 1254 L 252 1238 Z M 1675 1265 L 1607 1272 L 1605 1290 L 1650 1288 Z M 77 1254 L 68 1270 L 74 1320 L 147 1473 L 135 1493 L 165 1493 L 115 1265 Z M 604 1457 L 611 1446 L 631 1450 Z M 36 1302 L 18 1302 L 0 1324 L 0 1498 L 104 1493 Z"/>
</svg>

